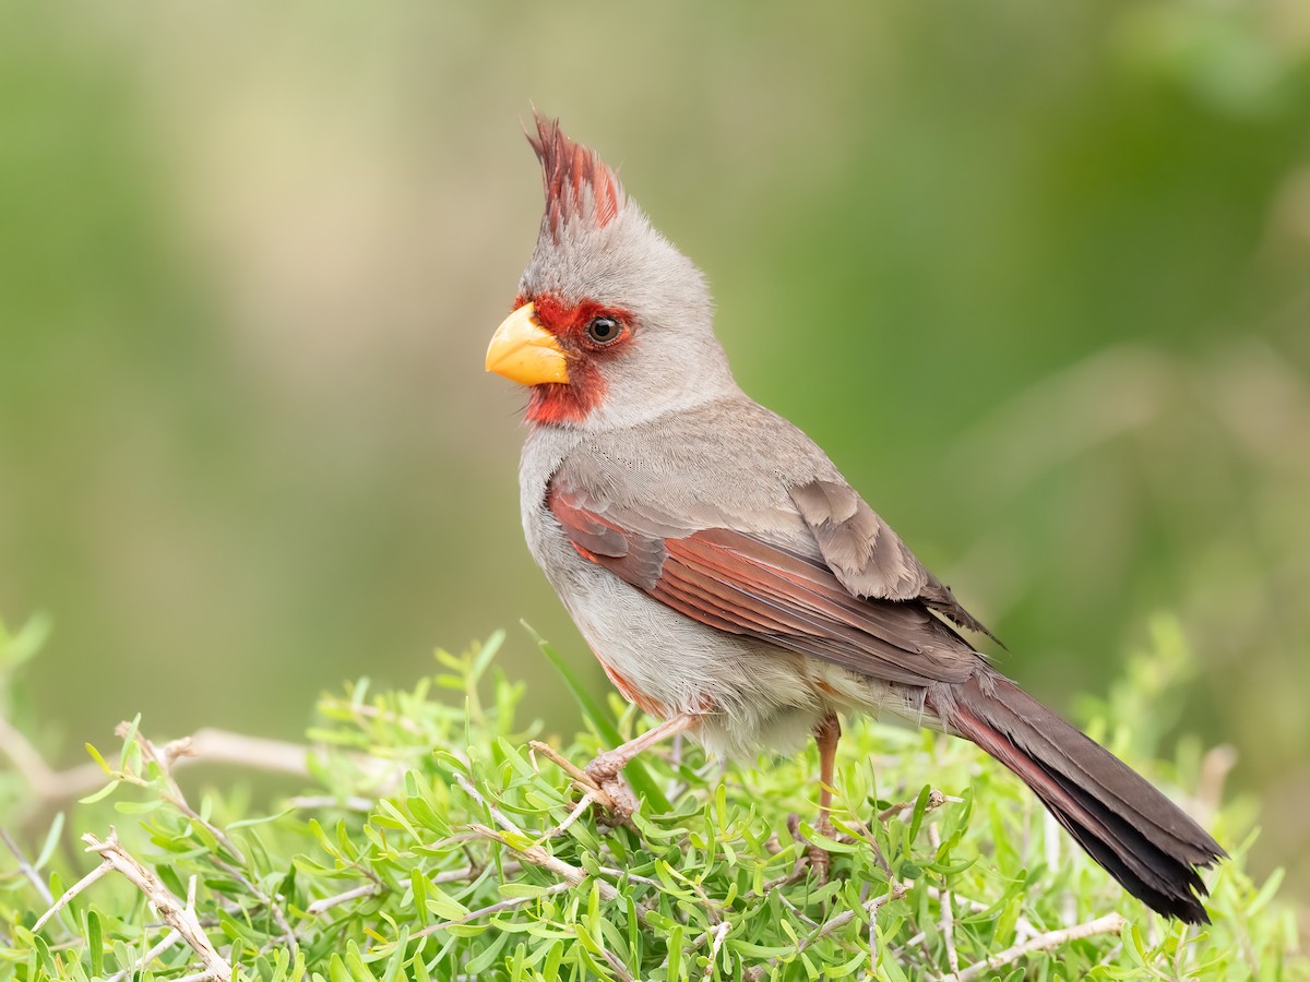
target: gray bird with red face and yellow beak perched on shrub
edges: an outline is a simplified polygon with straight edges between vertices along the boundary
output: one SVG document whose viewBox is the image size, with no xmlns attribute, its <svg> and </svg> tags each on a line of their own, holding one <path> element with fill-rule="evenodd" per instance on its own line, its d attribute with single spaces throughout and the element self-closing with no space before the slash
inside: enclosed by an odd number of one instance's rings
<svg viewBox="0 0 1310 982">
<path fill-rule="evenodd" d="M 820 757 L 891 714 L 1017 774 L 1148 907 L 1208 923 L 1222 847 L 1128 765 L 998 672 L 990 632 L 798 427 L 736 384 L 703 274 L 617 172 L 533 110 L 545 209 L 486 369 L 527 388 L 529 551 L 614 687 L 660 720 L 587 775 L 688 733 L 710 754 Z"/>
</svg>

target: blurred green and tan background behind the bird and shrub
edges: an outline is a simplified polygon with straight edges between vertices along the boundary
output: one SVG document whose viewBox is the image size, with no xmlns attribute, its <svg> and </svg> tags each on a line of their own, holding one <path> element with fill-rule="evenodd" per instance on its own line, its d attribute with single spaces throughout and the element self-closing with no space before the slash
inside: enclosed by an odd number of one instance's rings
<svg viewBox="0 0 1310 982">
<path fill-rule="evenodd" d="M 1066 711 L 1157 611 L 1310 893 L 1310 5 L 0 10 L 0 615 L 28 732 L 295 737 L 524 618 L 486 377 L 529 100 L 707 272 L 823 444 Z"/>
</svg>

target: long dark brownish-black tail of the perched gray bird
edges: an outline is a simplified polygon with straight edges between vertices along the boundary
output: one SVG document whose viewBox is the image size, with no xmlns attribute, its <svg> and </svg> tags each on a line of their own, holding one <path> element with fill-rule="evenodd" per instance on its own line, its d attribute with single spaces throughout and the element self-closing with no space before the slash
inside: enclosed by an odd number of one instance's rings
<svg viewBox="0 0 1310 982">
<path fill-rule="evenodd" d="M 951 686 L 937 708 L 1018 774 L 1125 890 L 1161 914 L 1209 923 L 1197 867 L 1225 852 L 1145 778 L 998 674 Z"/>
</svg>

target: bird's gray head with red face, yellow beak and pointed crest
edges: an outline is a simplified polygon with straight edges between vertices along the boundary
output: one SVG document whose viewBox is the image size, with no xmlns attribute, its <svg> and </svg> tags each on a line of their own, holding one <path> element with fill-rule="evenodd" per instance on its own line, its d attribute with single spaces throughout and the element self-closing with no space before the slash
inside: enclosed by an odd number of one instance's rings
<svg viewBox="0 0 1310 982">
<path fill-rule="evenodd" d="M 607 429 L 736 389 L 710 292 L 600 157 L 534 117 L 546 192 L 515 313 L 487 368 L 532 386 L 528 419 Z"/>
</svg>

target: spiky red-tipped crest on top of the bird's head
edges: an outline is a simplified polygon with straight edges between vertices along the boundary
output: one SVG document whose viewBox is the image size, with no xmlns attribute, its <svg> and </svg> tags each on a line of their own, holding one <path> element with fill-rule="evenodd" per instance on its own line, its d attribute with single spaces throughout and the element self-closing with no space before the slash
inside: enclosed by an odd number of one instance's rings
<svg viewBox="0 0 1310 982">
<path fill-rule="evenodd" d="M 624 203 L 618 177 L 593 149 L 565 136 L 558 119 L 546 119 L 536 109 L 532 118 L 537 135 L 527 136 L 541 161 L 550 234 L 558 234 L 559 224 L 569 219 L 596 228 L 608 225 Z"/>
</svg>

